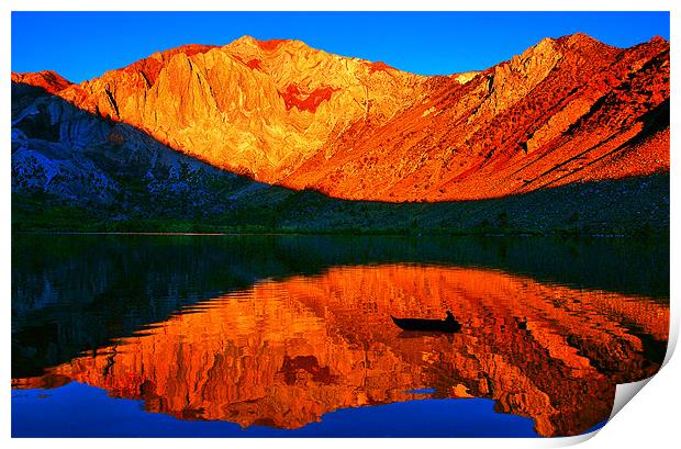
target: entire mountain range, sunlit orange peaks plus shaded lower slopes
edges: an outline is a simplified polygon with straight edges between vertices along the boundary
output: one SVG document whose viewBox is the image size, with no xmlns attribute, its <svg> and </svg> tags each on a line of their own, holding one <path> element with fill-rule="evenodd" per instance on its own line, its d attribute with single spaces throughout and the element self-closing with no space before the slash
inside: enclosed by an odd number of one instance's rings
<svg viewBox="0 0 681 449">
<path fill-rule="evenodd" d="M 665 227 L 669 96 L 660 37 L 630 48 L 545 38 L 487 70 L 420 76 L 244 36 L 81 83 L 12 74 L 12 190 L 29 215 L 38 194 L 123 221 L 168 211 L 234 218 L 256 204 L 284 209 L 297 227 L 312 203 L 359 207 L 369 227 L 383 226 L 376 217 L 413 227 L 417 203 L 439 211 L 433 227 L 527 228 L 537 216 L 584 227 L 614 201 L 628 207 L 605 212 L 624 217 L 616 226 L 640 224 L 637 213 Z M 547 212 L 545 195 L 576 194 Z M 576 210 L 583 197 L 593 207 Z M 332 221 L 317 227 L 339 226 Z"/>
</svg>

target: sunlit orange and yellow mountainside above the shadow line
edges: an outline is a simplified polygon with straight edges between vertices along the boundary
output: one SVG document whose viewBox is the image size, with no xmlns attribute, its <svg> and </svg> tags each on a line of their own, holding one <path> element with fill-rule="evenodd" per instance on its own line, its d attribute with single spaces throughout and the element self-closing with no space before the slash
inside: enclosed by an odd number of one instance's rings
<svg viewBox="0 0 681 449">
<path fill-rule="evenodd" d="M 669 169 L 661 38 L 546 38 L 482 72 L 421 77 L 246 36 L 80 85 L 13 77 L 215 167 L 345 199 L 494 198 Z"/>
</svg>

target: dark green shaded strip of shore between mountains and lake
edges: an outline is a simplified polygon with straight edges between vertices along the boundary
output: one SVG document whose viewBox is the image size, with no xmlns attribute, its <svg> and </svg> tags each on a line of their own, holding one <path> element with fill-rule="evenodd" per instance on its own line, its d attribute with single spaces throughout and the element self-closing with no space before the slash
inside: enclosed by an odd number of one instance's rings
<svg viewBox="0 0 681 449">
<path fill-rule="evenodd" d="M 659 235 L 669 233 L 669 173 L 447 203 L 344 201 L 271 187 L 220 213 L 69 205 L 12 198 L 13 232 Z"/>
</svg>

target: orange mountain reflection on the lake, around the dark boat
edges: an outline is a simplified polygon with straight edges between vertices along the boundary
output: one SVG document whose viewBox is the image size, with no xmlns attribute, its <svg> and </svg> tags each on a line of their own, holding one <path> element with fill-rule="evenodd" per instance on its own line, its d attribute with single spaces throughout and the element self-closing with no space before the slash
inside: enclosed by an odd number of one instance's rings
<svg viewBox="0 0 681 449">
<path fill-rule="evenodd" d="M 460 334 L 403 333 L 390 319 L 447 310 Z M 12 384 L 75 380 L 149 412 L 279 428 L 435 389 L 493 399 L 539 435 L 576 435 L 609 417 L 616 383 L 657 371 L 646 345 L 663 345 L 668 328 L 668 304 L 644 298 L 487 269 L 338 267 L 199 303 Z"/>
</svg>

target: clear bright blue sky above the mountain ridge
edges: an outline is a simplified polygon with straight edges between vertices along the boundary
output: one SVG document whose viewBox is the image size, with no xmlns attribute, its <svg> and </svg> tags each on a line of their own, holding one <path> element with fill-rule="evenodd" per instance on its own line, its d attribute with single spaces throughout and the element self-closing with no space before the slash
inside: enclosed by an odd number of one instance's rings
<svg viewBox="0 0 681 449">
<path fill-rule="evenodd" d="M 416 74 L 490 67 L 546 36 L 618 47 L 660 35 L 668 12 L 13 12 L 12 70 L 82 81 L 182 44 L 297 38 Z"/>
</svg>

